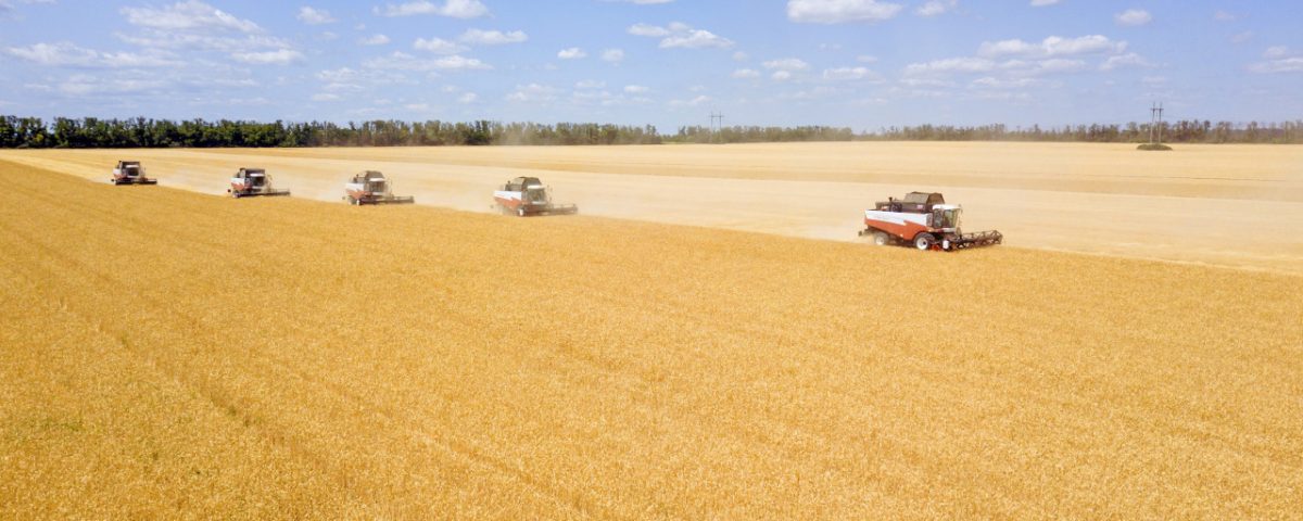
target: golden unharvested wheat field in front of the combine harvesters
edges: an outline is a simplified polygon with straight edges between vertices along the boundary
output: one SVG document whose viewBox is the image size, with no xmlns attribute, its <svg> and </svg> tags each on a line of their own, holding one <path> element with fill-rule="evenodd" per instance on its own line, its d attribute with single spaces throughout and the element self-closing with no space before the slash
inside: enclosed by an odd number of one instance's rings
<svg viewBox="0 0 1303 521">
<path fill-rule="evenodd" d="M 1289 517 L 1303 279 L 0 163 L 0 517 Z"/>
</svg>

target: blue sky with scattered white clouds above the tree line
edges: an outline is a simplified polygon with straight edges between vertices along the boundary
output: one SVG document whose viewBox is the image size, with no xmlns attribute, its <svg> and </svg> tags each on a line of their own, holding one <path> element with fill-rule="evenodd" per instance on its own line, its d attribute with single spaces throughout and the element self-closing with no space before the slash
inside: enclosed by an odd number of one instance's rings
<svg viewBox="0 0 1303 521">
<path fill-rule="evenodd" d="M 1298 0 L 0 0 L 0 113 L 1282 121 L 1299 27 Z"/>
</svg>

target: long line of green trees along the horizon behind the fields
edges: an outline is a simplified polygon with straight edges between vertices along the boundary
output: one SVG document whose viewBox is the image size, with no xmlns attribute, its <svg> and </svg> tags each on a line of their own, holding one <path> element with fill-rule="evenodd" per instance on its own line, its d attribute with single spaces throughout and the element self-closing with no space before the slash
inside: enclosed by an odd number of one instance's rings
<svg viewBox="0 0 1303 521">
<path fill-rule="evenodd" d="M 0 148 L 158 148 L 158 147 L 323 147 L 451 145 L 659 145 L 809 141 L 1031 141 L 1143 143 L 1161 130 L 1167 143 L 1303 143 L 1303 120 L 1233 124 L 1208 120 L 1149 124 L 1009 128 L 1006 125 L 890 126 L 859 132 L 844 126 L 655 126 L 534 124 L 498 121 L 377 120 L 349 122 L 259 122 L 136 119 L 0 116 Z"/>
</svg>

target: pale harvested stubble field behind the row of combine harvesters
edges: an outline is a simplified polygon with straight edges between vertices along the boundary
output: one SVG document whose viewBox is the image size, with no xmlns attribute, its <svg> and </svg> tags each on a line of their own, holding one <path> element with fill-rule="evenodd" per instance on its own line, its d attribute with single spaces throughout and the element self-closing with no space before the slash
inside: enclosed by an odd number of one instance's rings
<svg viewBox="0 0 1303 521">
<path fill-rule="evenodd" d="M 489 211 L 493 189 L 537 176 L 584 214 L 857 241 L 860 212 L 909 190 L 964 206 L 966 229 L 1009 245 L 1303 274 L 1303 147 L 803 143 L 659 147 L 0 151 L 102 180 L 120 158 L 168 186 L 220 194 L 241 165 L 296 197 L 339 201 L 349 173 L 384 171 L 420 204 Z"/>
</svg>

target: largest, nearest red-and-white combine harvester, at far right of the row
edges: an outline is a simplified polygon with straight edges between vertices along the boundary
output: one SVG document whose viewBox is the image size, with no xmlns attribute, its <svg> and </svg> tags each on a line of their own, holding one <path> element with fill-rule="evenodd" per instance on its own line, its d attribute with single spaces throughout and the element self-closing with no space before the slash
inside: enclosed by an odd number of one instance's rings
<svg viewBox="0 0 1303 521">
<path fill-rule="evenodd" d="M 959 216 L 963 208 L 946 204 L 946 198 L 938 193 L 912 191 L 904 199 L 887 199 L 878 202 L 876 210 L 864 211 L 865 229 L 860 232 L 860 237 L 870 236 L 878 246 L 913 244 L 920 250 L 954 251 L 1005 241 L 1005 236 L 995 231 L 960 232 Z"/>
</svg>

